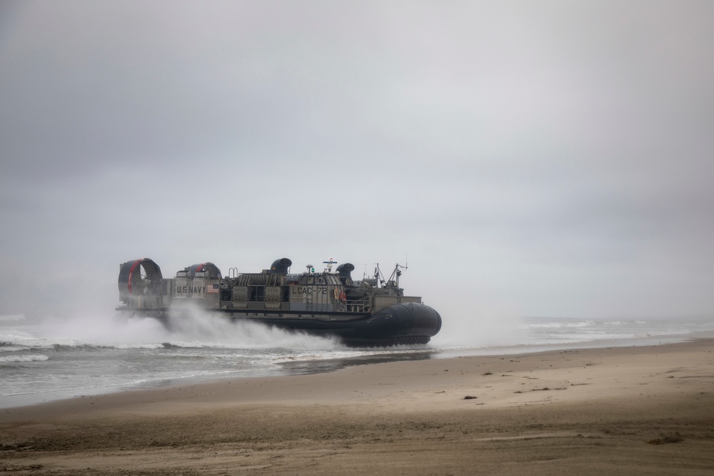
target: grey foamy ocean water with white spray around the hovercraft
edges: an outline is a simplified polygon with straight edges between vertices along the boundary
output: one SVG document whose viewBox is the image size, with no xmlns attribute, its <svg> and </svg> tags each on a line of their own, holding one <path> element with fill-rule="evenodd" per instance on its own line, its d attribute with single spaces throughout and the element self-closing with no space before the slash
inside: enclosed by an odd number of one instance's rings
<svg viewBox="0 0 714 476">
<path fill-rule="evenodd" d="M 451 331 L 451 332 L 450 332 Z M 653 345 L 714 335 L 714 315 L 685 318 L 444 320 L 428 345 L 346 348 L 335 340 L 193 315 L 166 330 L 120 315 L 0 316 L 0 407 L 196 381 L 315 373 L 390 360 Z M 453 337 L 456 336 L 456 337 Z"/>
</svg>

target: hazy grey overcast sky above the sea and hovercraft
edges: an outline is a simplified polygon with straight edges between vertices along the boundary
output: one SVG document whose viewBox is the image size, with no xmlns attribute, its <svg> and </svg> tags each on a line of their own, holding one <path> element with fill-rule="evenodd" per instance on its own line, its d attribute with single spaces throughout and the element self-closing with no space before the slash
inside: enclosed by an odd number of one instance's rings
<svg viewBox="0 0 714 476">
<path fill-rule="evenodd" d="M 714 311 L 714 2 L 0 0 L 0 315 L 380 263 L 443 315 Z"/>
</svg>

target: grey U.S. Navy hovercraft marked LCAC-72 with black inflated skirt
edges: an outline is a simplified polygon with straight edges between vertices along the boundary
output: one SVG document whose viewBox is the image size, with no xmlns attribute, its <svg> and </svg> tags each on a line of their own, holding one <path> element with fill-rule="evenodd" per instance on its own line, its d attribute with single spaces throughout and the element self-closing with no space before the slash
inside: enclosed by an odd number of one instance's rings
<svg viewBox="0 0 714 476">
<path fill-rule="evenodd" d="M 357 347 L 426 344 L 441 330 L 441 315 L 399 288 L 401 265 L 386 281 L 378 266 L 373 278 L 354 281 L 351 263 L 334 272 L 336 261 L 323 263 L 322 272 L 308 265 L 306 272 L 291 274 L 292 261 L 281 258 L 262 273 L 231 268 L 228 277 L 213 263 L 199 263 L 164 278 L 153 260 L 131 260 L 119 265 L 116 310 L 153 317 L 170 328 L 186 318 L 182 310 L 195 306 L 231 320 L 338 338 Z"/>
</svg>

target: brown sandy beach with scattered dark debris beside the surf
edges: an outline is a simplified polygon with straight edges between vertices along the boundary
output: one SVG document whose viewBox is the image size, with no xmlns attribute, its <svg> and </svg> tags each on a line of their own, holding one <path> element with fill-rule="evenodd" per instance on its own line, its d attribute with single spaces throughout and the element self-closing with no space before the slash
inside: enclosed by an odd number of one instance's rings
<svg viewBox="0 0 714 476">
<path fill-rule="evenodd" d="M 714 340 L 464 356 L 0 410 L 11 475 L 713 475 Z"/>
</svg>

